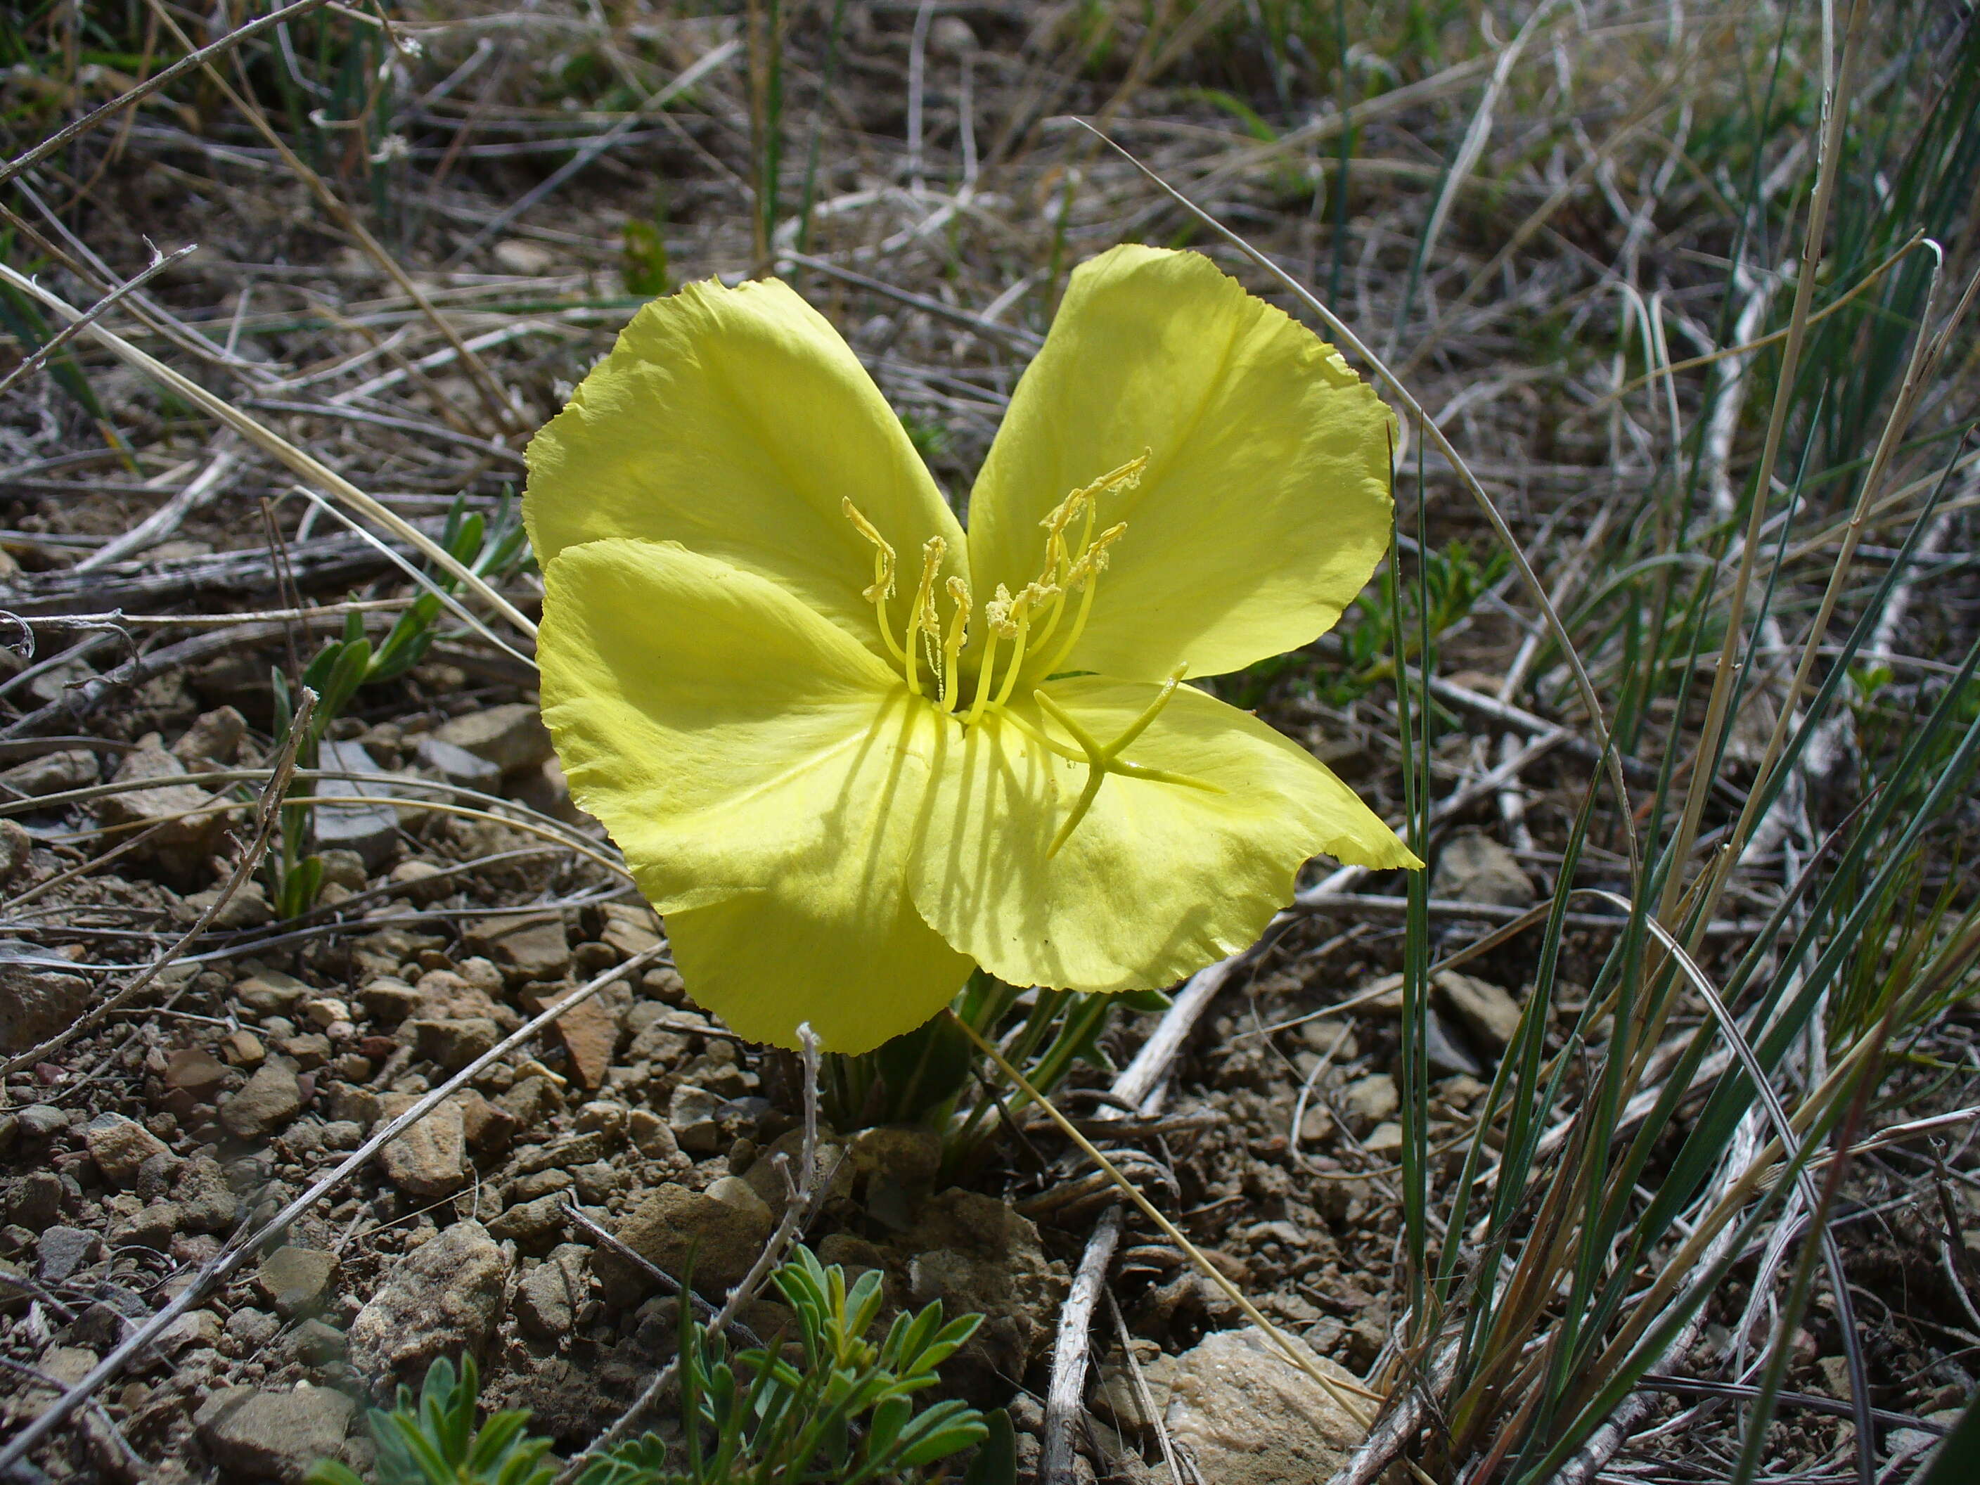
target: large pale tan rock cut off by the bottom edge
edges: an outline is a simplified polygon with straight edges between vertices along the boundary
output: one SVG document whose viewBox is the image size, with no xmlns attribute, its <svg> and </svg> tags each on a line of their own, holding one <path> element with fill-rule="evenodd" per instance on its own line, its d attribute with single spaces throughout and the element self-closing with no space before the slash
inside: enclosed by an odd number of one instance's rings
<svg viewBox="0 0 1980 1485">
<path fill-rule="evenodd" d="M 1313 1364 L 1360 1386 L 1331 1360 L 1315 1356 Z M 1168 1382 L 1168 1432 L 1188 1445 L 1204 1479 L 1311 1485 L 1346 1463 L 1364 1434 L 1319 1382 L 1251 1327 L 1206 1336 L 1176 1356 Z"/>
</svg>

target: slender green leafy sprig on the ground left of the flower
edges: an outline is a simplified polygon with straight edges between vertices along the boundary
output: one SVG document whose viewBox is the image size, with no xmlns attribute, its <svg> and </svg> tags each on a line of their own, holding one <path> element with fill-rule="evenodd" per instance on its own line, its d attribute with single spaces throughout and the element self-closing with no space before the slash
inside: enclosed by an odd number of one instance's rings
<svg viewBox="0 0 1980 1485">
<path fill-rule="evenodd" d="M 453 560 L 467 566 L 475 576 L 487 578 L 507 572 L 523 554 L 523 525 L 509 517 L 507 505 L 497 513 L 493 531 L 479 511 L 469 511 L 465 501 L 455 501 L 447 511 L 447 525 L 440 544 Z M 451 594 L 459 578 L 449 572 L 436 572 L 432 586 L 422 588 L 406 612 L 392 624 L 390 634 L 372 649 L 364 634 L 364 616 L 350 612 L 345 616 L 341 638 L 323 645 L 317 657 L 303 669 L 301 685 L 317 693 L 317 709 L 295 748 L 297 768 L 315 768 L 323 739 L 329 733 L 360 685 L 394 681 L 432 649 L 440 624 L 442 594 Z M 289 727 L 295 719 L 295 701 L 287 677 L 277 669 L 275 683 L 275 746 L 289 741 Z M 303 784 L 297 792 L 309 794 L 313 786 Z M 309 849 L 313 812 L 307 804 L 283 804 L 281 840 L 267 857 L 269 899 L 279 919 L 293 919 L 307 913 L 323 887 L 323 859 Z"/>
</svg>

